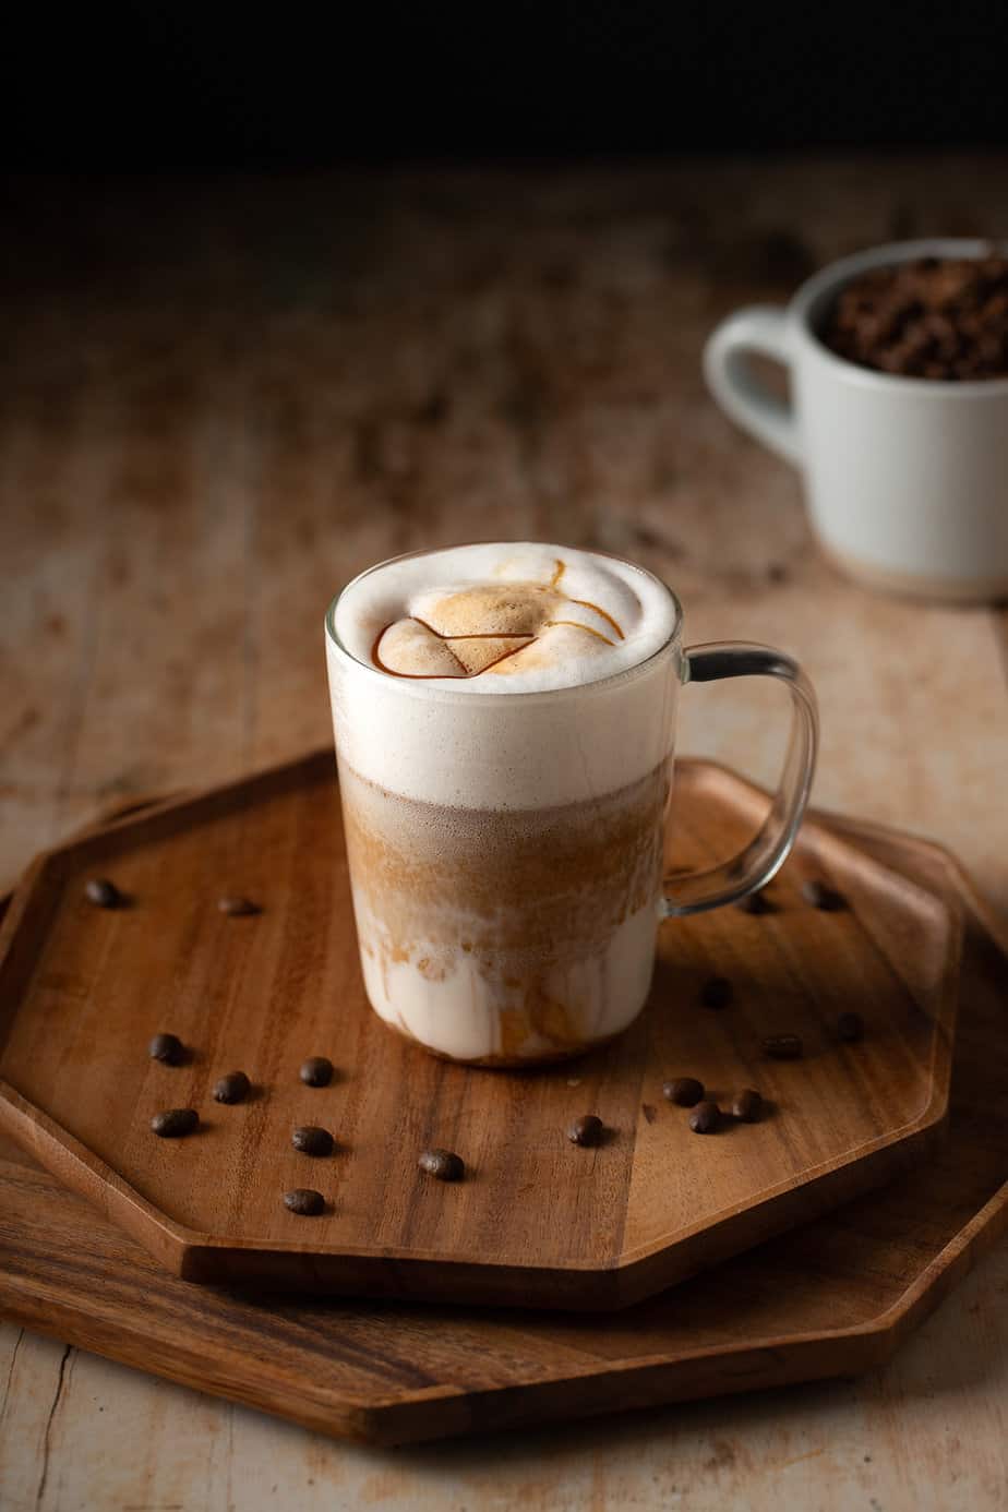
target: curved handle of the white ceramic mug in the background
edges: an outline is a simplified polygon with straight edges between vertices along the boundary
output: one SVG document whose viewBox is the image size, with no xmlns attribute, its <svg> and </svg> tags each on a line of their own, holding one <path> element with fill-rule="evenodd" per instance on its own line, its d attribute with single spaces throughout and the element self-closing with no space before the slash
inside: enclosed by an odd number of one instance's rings
<svg viewBox="0 0 1008 1512">
<path fill-rule="evenodd" d="M 801 464 L 801 443 L 792 404 L 778 399 L 754 376 L 751 352 L 790 370 L 790 318 L 772 304 L 736 310 L 704 346 L 704 378 L 731 419 L 786 463 Z"/>
</svg>

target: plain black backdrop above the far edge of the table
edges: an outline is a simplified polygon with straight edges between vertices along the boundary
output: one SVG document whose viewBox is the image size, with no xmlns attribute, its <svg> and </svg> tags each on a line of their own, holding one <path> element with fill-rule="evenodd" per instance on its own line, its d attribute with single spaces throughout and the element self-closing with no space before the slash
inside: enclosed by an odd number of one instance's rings
<svg viewBox="0 0 1008 1512">
<path fill-rule="evenodd" d="M 14 168 L 1008 142 L 1005 5 L 60 8 L 6 20 Z"/>
</svg>

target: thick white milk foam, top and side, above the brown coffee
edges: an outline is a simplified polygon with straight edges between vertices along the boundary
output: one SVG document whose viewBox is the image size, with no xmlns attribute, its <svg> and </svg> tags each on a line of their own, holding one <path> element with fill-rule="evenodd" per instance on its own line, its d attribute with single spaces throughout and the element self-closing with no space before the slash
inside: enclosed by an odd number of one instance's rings
<svg viewBox="0 0 1008 1512">
<path fill-rule="evenodd" d="M 444 661 L 431 674 L 378 670 L 375 643 L 388 626 L 416 641 L 420 609 L 428 624 L 434 615 L 438 626 L 461 624 L 473 637 L 500 632 L 500 600 L 484 632 L 473 629 L 488 623 L 478 600 L 455 597 L 487 587 L 514 588 L 520 614 L 529 609 L 527 590 L 546 599 L 562 588 L 564 618 L 580 618 L 540 626 L 517 655 L 478 674 L 443 676 Z M 612 627 L 606 634 L 604 615 L 585 605 L 611 615 L 623 638 Z M 558 617 L 552 597 L 546 608 Z M 508 621 L 508 634 L 524 623 Z M 615 792 L 669 753 L 683 673 L 676 629 L 676 600 L 656 578 L 591 552 L 497 543 L 388 562 L 352 582 L 329 621 L 340 764 L 390 792 L 449 807 L 540 809 Z M 459 643 L 435 635 L 425 644 L 440 658 Z M 663 647 L 666 655 L 656 655 Z M 521 694 L 538 697 L 517 708 Z"/>
</svg>

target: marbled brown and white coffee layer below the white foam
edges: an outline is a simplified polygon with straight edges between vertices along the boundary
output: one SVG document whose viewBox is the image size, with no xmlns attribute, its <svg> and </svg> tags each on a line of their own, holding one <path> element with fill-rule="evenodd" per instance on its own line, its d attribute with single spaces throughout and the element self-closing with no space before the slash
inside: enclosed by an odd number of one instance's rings
<svg viewBox="0 0 1008 1512">
<path fill-rule="evenodd" d="M 509 812 L 405 798 L 342 764 L 376 1012 L 462 1060 L 618 1033 L 650 984 L 669 765 L 598 798 Z"/>
</svg>

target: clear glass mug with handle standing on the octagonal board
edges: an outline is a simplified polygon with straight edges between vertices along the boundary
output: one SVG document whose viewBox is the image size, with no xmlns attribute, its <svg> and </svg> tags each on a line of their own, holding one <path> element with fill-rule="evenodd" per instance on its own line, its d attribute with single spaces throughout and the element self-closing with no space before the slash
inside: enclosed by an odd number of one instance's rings
<svg viewBox="0 0 1008 1512">
<path fill-rule="evenodd" d="M 438 553 L 411 553 L 428 555 Z M 355 578 L 325 621 L 369 1001 L 449 1060 L 527 1066 L 582 1054 L 644 1007 L 663 919 L 736 903 L 786 859 L 815 771 L 812 685 L 765 646 L 683 649 L 679 600 L 633 564 L 623 565 L 668 596 L 673 624 L 636 665 L 524 692 L 390 674 L 352 655 L 335 627 L 346 596 L 390 565 Z M 745 850 L 669 891 L 679 689 L 744 676 L 778 677 L 792 696 L 780 788 Z"/>
</svg>

